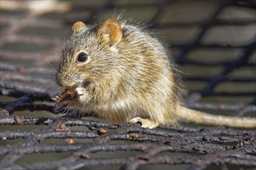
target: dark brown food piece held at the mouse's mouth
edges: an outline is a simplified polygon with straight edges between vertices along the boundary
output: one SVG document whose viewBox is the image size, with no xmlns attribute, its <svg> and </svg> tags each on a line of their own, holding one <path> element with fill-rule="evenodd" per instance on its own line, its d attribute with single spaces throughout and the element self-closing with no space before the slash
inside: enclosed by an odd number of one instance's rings
<svg viewBox="0 0 256 170">
<path fill-rule="evenodd" d="M 54 111 L 63 111 L 72 100 L 78 98 L 78 92 L 75 90 L 76 87 L 66 89 L 62 93 L 57 93 L 53 98 L 55 100 Z"/>
</svg>

